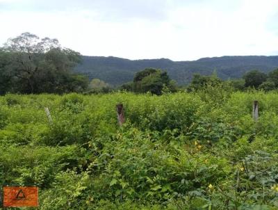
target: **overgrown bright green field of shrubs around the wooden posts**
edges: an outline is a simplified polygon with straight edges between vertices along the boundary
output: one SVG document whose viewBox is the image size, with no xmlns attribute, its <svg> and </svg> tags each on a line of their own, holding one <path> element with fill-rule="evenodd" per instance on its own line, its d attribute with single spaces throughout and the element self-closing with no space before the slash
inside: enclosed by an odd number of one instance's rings
<svg viewBox="0 0 278 210">
<path fill-rule="evenodd" d="M 275 92 L 6 95 L 0 182 L 40 209 L 278 209 L 277 138 Z"/>
</svg>

